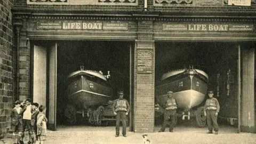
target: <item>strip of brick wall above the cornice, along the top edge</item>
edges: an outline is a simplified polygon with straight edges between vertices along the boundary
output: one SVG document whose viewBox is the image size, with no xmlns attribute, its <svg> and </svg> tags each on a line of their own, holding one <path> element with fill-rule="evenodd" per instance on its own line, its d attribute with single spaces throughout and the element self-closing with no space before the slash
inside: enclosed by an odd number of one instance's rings
<svg viewBox="0 0 256 144">
<path fill-rule="evenodd" d="M 194 0 L 195 1 L 195 0 Z M 154 5 L 153 0 L 148 0 L 147 12 L 166 12 L 177 14 L 191 14 L 191 13 L 209 13 L 209 14 L 232 14 L 232 13 L 256 13 L 256 4 L 252 6 L 228 6 L 221 2 L 216 5 L 198 5 L 198 4 L 163 4 Z M 144 0 L 138 0 L 138 5 L 38 5 L 27 4 L 27 0 L 14 0 L 14 9 L 20 10 L 36 10 L 36 11 L 101 11 L 101 12 L 143 12 Z M 155 2 L 156 3 L 156 2 Z"/>
</svg>

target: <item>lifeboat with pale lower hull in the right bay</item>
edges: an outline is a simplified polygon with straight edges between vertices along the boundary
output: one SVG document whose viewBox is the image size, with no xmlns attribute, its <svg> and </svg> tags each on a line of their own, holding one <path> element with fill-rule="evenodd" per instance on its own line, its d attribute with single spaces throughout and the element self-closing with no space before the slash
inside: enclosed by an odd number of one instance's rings
<svg viewBox="0 0 256 144">
<path fill-rule="evenodd" d="M 167 100 L 167 92 L 173 91 L 173 98 L 176 100 L 178 109 L 182 111 L 182 119 L 185 116 L 195 116 L 191 113 L 193 107 L 200 105 L 207 92 L 208 75 L 199 69 L 190 67 L 169 71 L 163 74 L 156 86 L 156 99 L 160 107 L 164 107 Z M 198 111 L 201 113 L 202 108 Z"/>
</svg>

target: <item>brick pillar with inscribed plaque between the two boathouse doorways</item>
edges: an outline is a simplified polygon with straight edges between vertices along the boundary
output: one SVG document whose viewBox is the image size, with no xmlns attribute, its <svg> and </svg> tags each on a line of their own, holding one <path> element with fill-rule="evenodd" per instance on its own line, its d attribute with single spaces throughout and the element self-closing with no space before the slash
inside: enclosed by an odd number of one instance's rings
<svg viewBox="0 0 256 144">
<path fill-rule="evenodd" d="M 138 22 L 134 50 L 134 132 L 154 131 L 155 47 L 153 22 Z"/>
</svg>

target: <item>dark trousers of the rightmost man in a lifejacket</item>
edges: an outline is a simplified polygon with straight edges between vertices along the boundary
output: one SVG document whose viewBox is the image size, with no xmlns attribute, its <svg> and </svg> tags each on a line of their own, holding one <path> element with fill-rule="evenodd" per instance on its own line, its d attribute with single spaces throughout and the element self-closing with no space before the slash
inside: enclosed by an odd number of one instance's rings
<svg viewBox="0 0 256 144">
<path fill-rule="evenodd" d="M 207 125 L 208 125 L 209 131 L 212 131 L 212 126 L 214 131 L 219 131 L 217 116 L 215 116 L 215 113 L 216 113 L 216 110 L 206 110 Z"/>
</svg>

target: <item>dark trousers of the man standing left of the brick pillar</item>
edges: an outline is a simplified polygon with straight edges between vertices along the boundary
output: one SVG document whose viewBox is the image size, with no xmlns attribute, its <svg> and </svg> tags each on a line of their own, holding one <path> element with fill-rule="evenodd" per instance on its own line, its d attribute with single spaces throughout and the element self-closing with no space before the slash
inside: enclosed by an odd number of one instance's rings
<svg viewBox="0 0 256 144">
<path fill-rule="evenodd" d="M 117 111 L 116 112 L 116 135 L 119 135 L 119 127 L 120 127 L 120 120 L 122 118 L 122 125 L 123 125 L 123 132 L 122 134 L 126 134 L 126 111 Z"/>
</svg>

